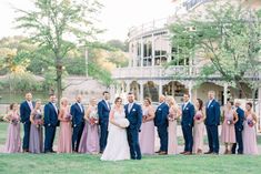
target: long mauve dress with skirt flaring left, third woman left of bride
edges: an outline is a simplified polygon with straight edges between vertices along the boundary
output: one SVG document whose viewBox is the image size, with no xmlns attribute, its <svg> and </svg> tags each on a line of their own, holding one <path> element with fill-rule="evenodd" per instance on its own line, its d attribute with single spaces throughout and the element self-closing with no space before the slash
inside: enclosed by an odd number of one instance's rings
<svg viewBox="0 0 261 174">
<path fill-rule="evenodd" d="M 90 117 L 97 117 L 97 108 L 92 106 Z M 99 153 L 99 127 L 98 123 L 91 124 L 90 121 L 86 121 L 86 125 L 81 135 L 79 144 L 80 153 L 96 154 Z"/>
</svg>

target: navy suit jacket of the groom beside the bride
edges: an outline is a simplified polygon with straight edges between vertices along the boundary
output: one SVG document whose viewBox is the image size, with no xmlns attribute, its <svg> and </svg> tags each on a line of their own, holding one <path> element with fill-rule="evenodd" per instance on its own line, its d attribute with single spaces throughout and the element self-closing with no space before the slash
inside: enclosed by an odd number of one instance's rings
<svg viewBox="0 0 261 174">
<path fill-rule="evenodd" d="M 129 113 L 128 112 L 128 104 L 126 104 L 124 110 L 126 110 L 126 119 L 128 119 L 130 122 L 129 129 L 140 131 L 140 126 L 142 123 L 142 109 L 141 109 L 141 106 L 137 103 L 133 103 L 133 105 L 130 110 L 130 113 Z"/>
</svg>

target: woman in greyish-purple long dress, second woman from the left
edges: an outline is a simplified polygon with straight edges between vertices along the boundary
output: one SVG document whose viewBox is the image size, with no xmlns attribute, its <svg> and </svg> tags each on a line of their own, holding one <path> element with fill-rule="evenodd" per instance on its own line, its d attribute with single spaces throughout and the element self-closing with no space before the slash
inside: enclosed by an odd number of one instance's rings
<svg viewBox="0 0 261 174">
<path fill-rule="evenodd" d="M 36 101 L 36 106 L 30 115 L 30 139 L 29 139 L 29 152 L 30 153 L 42 153 L 43 152 L 43 141 L 42 141 L 42 124 L 43 116 L 41 112 L 41 101 Z"/>
</svg>

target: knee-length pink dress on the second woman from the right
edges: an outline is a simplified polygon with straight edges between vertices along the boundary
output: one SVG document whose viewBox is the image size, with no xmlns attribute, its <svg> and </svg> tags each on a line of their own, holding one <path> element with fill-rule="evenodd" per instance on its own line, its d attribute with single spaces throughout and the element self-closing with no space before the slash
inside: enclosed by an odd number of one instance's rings
<svg viewBox="0 0 261 174">
<path fill-rule="evenodd" d="M 224 121 L 221 130 L 221 142 L 235 143 L 235 132 L 233 121 L 233 110 L 224 111 Z M 229 124 L 230 122 L 230 124 Z"/>
</svg>

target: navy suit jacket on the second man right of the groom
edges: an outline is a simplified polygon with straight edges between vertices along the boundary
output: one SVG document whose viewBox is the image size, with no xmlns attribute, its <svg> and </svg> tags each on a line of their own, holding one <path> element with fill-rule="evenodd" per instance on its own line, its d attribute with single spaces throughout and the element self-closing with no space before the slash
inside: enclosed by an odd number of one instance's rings
<svg viewBox="0 0 261 174">
<path fill-rule="evenodd" d="M 184 104 L 183 104 L 181 125 L 193 126 L 193 117 L 194 117 L 194 105 L 191 102 L 189 102 L 184 108 Z"/>
</svg>

